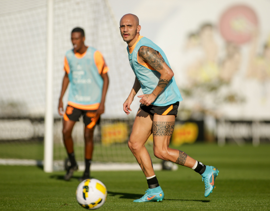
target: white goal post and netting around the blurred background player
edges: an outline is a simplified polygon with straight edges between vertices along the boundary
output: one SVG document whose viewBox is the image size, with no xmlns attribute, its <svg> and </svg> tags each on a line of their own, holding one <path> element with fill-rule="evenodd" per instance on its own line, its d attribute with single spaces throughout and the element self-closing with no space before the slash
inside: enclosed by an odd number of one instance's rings
<svg viewBox="0 0 270 211">
<path fill-rule="evenodd" d="M 0 56 L 0 126 L 3 126 L 0 128 L 0 141 L 5 147 L 12 149 L 14 146 L 18 150 L 8 149 L 8 157 L 1 155 L 0 158 L 34 159 L 35 162 L 30 163 L 43 163 L 46 172 L 53 171 L 57 163 L 64 163 L 67 154 L 57 107 L 65 52 L 72 48 L 71 30 L 82 27 L 86 34 L 85 44 L 97 48 L 110 69 L 102 126 L 97 128 L 103 136 L 95 136 L 95 161 L 133 162 L 134 156 L 126 144 L 128 138 L 116 140 L 119 134 L 104 138 L 104 134 L 115 133 L 117 127 L 116 132 L 126 137 L 136 114 L 133 112 L 127 116 L 123 112 L 122 105 L 135 76 L 129 64 L 127 44 L 120 36 L 108 2 L 3 0 L 0 26 L 4 29 L 1 38 L 5 40 L 0 43 L 0 47 L 5 49 Z M 67 93 L 63 103 L 66 106 Z M 139 101 L 133 102 L 132 108 L 138 107 Z M 82 161 L 83 127 L 81 122 L 75 126 L 75 150 L 78 150 L 78 161 Z M 36 145 L 38 147 L 33 148 Z M 44 146 L 44 155 L 39 151 L 40 145 Z M 26 147 L 22 155 L 19 155 L 20 146 Z"/>
</svg>

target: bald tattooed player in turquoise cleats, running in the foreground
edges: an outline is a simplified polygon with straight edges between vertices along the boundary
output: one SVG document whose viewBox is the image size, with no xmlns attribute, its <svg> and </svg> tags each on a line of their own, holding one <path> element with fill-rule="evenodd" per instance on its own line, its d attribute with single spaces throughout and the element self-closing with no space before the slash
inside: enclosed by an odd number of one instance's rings
<svg viewBox="0 0 270 211">
<path fill-rule="evenodd" d="M 180 150 L 169 147 L 174 130 L 175 117 L 179 101 L 182 101 L 174 79 L 174 73 L 166 55 L 151 40 L 139 34 L 141 26 L 136 15 L 126 14 L 120 20 L 120 32 L 127 42 L 130 65 L 135 73 L 135 82 L 123 110 L 130 114 L 130 105 L 139 89 L 143 95 L 140 108 L 134 120 L 128 146 L 139 163 L 148 184 L 146 194 L 134 202 L 162 201 L 164 193 L 155 175 L 151 157 L 145 148 L 145 142 L 153 133 L 154 155 L 166 161 L 172 161 L 194 169 L 205 183 L 205 197 L 209 196 L 214 186 L 217 168 L 205 166 Z"/>
</svg>

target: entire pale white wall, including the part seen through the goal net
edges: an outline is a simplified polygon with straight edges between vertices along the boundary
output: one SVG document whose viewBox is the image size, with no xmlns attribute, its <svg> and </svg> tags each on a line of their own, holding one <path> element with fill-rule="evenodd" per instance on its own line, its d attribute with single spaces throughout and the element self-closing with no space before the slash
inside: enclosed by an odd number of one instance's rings
<svg viewBox="0 0 270 211">
<path fill-rule="evenodd" d="M 92 3 L 91 3 L 92 2 Z M 269 0 L 107 0 L 111 10 L 100 9 L 102 1 L 62 1 L 55 0 L 55 81 L 54 113 L 63 78 L 63 57 L 71 48 L 70 31 L 75 26 L 86 30 L 86 44 L 99 48 L 110 71 L 110 88 L 104 117 L 125 116 L 122 104 L 129 94 L 133 82 L 133 71 L 129 67 L 125 42 L 121 39 L 118 24 L 126 13 L 133 13 L 140 19 L 141 35 L 153 40 L 166 53 L 180 90 L 187 84 L 187 54 L 184 49 L 187 35 L 205 22 L 217 25 L 222 12 L 237 3 L 246 4 L 256 12 L 259 20 L 259 43 L 257 52 L 270 35 Z M 93 10 L 94 9 L 94 10 Z M 95 11 L 97 19 L 93 21 Z M 110 16 L 110 12 L 114 17 Z M 73 16 L 71 16 L 73 15 Z M 98 22 L 100 21 L 101 24 Z M 46 55 L 46 0 L 24 1 L 2 0 L 0 7 L 2 29 L 0 48 L 0 114 L 7 113 L 7 107 L 15 112 L 29 115 L 43 115 L 45 111 L 45 55 Z M 98 30 L 98 33 L 96 33 Z M 224 40 L 215 30 L 215 40 L 219 58 L 224 54 Z M 112 36 L 110 36 L 112 35 Z M 112 45 L 113 44 L 113 45 Z M 110 51 L 108 51 L 110 49 Z M 196 111 L 199 103 L 202 108 L 230 119 L 270 119 L 270 85 L 256 79 L 246 78 L 250 43 L 241 46 L 242 62 L 239 71 L 227 87 L 229 91 L 244 96 L 244 103 L 213 104 L 207 94 L 200 99 L 186 96 L 180 108 Z M 115 59 L 117 58 L 117 59 Z M 191 58 L 192 59 L 192 58 Z M 33 80 L 34 79 L 34 80 Z M 120 90 L 120 92 L 118 92 Z M 136 99 L 136 98 L 135 98 Z M 20 105 L 8 104 L 19 102 Z M 5 106 L 7 104 L 7 106 Z M 133 116 L 139 99 L 133 102 Z M 17 106 L 17 107 L 16 107 Z M 18 110 L 20 108 L 21 110 Z M 14 110 L 11 110 L 11 114 Z M 131 116 L 132 116 L 131 115 Z M 1 116 L 1 115 L 0 115 Z"/>
</svg>

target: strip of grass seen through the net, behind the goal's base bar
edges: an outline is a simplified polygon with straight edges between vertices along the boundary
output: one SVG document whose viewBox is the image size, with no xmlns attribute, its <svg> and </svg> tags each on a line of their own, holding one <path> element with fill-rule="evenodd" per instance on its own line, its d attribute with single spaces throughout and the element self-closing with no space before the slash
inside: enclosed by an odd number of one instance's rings
<svg viewBox="0 0 270 211">
<path fill-rule="evenodd" d="M 74 151 L 78 161 L 84 160 L 84 146 L 74 144 Z M 146 144 L 153 163 L 159 163 L 160 160 L 154 157 L 153 144 Z M 26 153 L 27 152 L 27 153 Z M 67 153 L 63 144 L 54 145 L 54 160 L 63 160 Z M 32 159 L 43 160 L 44 144 L 42 142 L 7 142 L 0 143 L 0 159 Z M 103 146 L 100 143 L 94 145 L 93 161 L 98 162 L 136 162 L 135 157 L 130 152 L 127 143 L 117 143 Z"/>
</svg>

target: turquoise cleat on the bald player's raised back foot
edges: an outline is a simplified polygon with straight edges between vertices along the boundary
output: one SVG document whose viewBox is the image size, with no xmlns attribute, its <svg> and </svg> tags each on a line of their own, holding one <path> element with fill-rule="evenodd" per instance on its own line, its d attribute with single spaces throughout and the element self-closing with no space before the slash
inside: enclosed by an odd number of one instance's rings
<svg viewBox="0 0 270 211">
<path fill-rule="evenodd" d="M 205 172 L 202 174 L 202 179 L 205 185 L 205 197 L 209 196 L 213 192 L 213 189 L 215 188 L 215 178 L 217 177 L 218 173 L 219 171 L 217 168 L 213 166 L 206 166 Z"/>
</svg>

